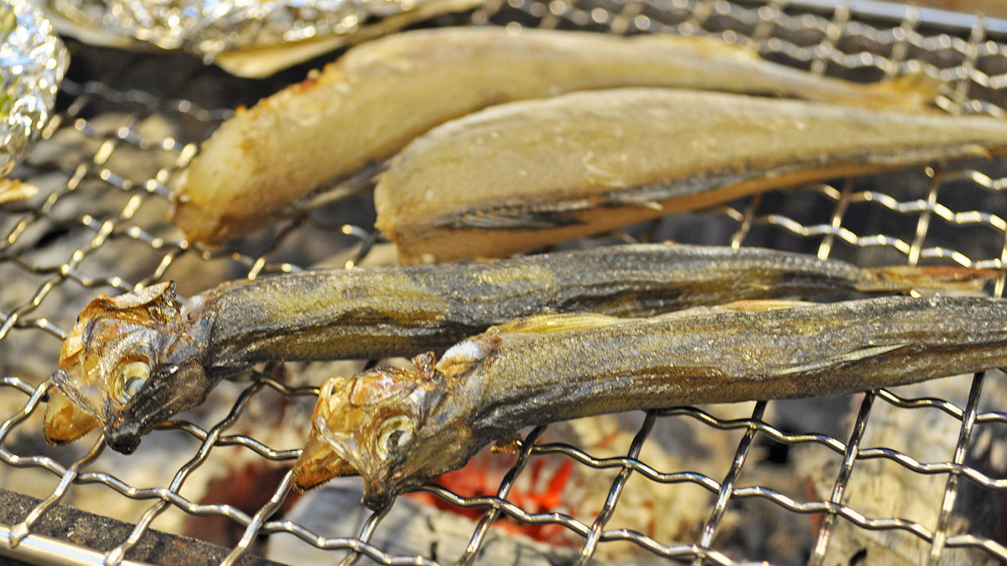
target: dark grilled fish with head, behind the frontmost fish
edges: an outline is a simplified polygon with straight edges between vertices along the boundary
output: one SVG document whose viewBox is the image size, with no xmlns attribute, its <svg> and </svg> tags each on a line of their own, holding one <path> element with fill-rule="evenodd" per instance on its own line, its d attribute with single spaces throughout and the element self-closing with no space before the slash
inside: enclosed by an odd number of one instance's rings
<svg viewBox="0 0 1007 566">
<path fill-rule="evenodd" d="M 130 452 L 220 381 L 271 360 L 413 356 L 544 312 L 646 316 L 697 304 L 838 291 L 978 289 L 996 271 L 865 269 L 760 249 L 632 245 L 498 262 L 318 270 L 176 300 L 164 282 L 81 313 L 45 415 L 55 444 L 103 427 Z"/>
</svg>

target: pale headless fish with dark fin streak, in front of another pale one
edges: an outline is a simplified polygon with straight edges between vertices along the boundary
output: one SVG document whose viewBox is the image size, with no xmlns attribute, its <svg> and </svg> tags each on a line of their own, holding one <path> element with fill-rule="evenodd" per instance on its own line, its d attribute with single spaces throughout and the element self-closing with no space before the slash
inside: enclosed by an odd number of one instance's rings
<svg viewBox="0 0 1007 566">
<path fill-rule="evenodd" d="M 500 105 L 435 128 L 382 174 L 402 263 L 503 257 L 801 182 L 988 155 L 1007 122 L 663 89 Z"/>
</svg>

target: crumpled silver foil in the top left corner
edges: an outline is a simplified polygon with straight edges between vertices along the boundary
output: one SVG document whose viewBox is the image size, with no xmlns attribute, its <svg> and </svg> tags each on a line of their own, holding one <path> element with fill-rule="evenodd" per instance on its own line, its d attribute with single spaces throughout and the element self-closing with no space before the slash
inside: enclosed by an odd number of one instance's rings
<svg viewBox="0 0 1007 566">
<path fill-rule="evenodd" d="M 0 177 L 49 121 L 68 62 L 39 6 L 0 0 Z"/>
</svg>

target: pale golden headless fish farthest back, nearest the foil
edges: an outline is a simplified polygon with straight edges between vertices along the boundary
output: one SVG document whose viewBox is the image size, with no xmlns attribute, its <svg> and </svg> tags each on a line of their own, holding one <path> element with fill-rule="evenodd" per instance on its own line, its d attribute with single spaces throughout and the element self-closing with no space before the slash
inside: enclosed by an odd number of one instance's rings
<svg viewBox="0 0 1007 566">
<path fill-rule="evenodd" d="M 217 244 L 370 186 L 378 165 L 443 122 L 487 106 L 624 86 L 694 88 L 919 110 L 924 76 L 876 85 L 826 79 L 707 38 L 495 27 L 442 28 L 359 45 L 321 73 L 239 110 L 176 186 L 174 222 Z M 316 195 L 317 196 L 317 195 Z M 310 200 L 310 203 L 307 200 Z"/>
</svg>

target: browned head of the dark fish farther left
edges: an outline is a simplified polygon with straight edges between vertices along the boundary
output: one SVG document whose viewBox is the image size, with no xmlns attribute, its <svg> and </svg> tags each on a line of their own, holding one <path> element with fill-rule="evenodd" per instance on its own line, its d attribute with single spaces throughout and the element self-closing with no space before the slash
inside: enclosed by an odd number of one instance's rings
<svg viewBox="0 0 1007 566">
<path fill-rule="evenodd" d="M 112 448 L 136 449 L 165 411 L 177 412 L 185 392 L 165 395 L 165 382 L 202 372 L 191 362 L 191 340 L 176 328 L 179 318 L 173 282 L 89 303 L 59 351 L 45 438 L 63 444 L 104 426 Z"/>
</svg>

